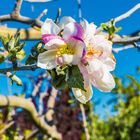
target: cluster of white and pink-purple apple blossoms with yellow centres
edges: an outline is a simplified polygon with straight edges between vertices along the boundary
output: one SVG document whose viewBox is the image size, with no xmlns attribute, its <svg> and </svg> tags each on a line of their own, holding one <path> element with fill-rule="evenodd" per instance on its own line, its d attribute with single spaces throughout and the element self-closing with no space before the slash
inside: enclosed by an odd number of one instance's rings
<svg viewBox="0 0 140 140">
<path fill-rule="evenodd" d="M 85 19 L 77 23 L 72 17 L 63 17 L 58 24 L 46 19 L 41 32 L 46 51 L 39 54 L 38 67 L 53 70 L 78 66 L 85 89 L 72 88 L 78 101 L 86 103 L 91 99 L 92 85 L 104 92 L 110 92 L 115 87 L 110 73 L 116 65 L 112 42 L 96 33 L 94 23 Z"/>
</svg>

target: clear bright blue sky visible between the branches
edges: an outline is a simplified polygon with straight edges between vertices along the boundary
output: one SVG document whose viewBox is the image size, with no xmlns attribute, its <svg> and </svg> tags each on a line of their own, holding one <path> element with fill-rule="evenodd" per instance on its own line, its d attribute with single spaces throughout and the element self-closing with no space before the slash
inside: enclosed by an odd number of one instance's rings
<svg viewBox="0 0 140 140">
<path fill-rule="evenodd" d="M 15 0 L 1 0 L 0 1 L 0 15 L 7 14 L 12 11 L 13 3 Z M 13 3 L 12 3 L 13 2 Z M 128 11 L 130 8 L 135 6 L 139 0 L 81 0 L 82 2 L 82 15 L 83 18 L 87 19 L 89 22 L 94 22 L 97 26 L 101 23 L 108 21 L 113 17 L 117 17 L 124 12 Z M 10 4 L 9 4 L 10 3 Z M 34 7 L 34 11 L 32 11 Z M 30 16 L 36 18 L 44 9 L 48 9 L 48 13 L 45 18 L 56 17 L 57 9 L 62 9 L 61 16 L 72 16 L 78 20 L 78 9 L 77 9 L 77 0 L 56 0 L 54 2 L 48 3 L 28 3 L 24 2 L 21 9 L 21 14 L 25 16 Z M 8 22 L 6 23 L 8 27 L 24 27 L 27 28 L 27 25 Z M 130 34 L 132 32 L 140 29 L 140 10 L 134 13 L 131 17 L 119 22 L 118 26 L 122 26 L 122 31 L 120 34 Z M 25 49 L 29 52 L 29 49 L 35 44 L 35 42 L 27 42 Z M 120 77 L 124 77 L 127 74 L 136 76 L 136 67 L 140 66 L 140 52 L 137 52 L 136 49 L 130 49 L 122 51 L 118 54 L 115 54 L 117 59 L 117 65 L 115 74 Z M 28 72 L 26 72 L 28 73 Z M 25 74 L 26 74 L 25 73 Z M 22 74 L 23 73 L 19 73 Z M 34 72 L 30 72 L 32 75 L 36 75 Z M 12 89 L 14 92 L 20 92 L 21 88 L 13 86 Z M 7 94 L 7 80 L 5 77 L 0 76 L 0 93 Z M 111 110 L 110 106 L 107 106 L 106 109 L 103 108 L 106 105 L 106 102 L 110 97 L 114 96 L 111 93 L 101 93 L 98 90 L 94 89 L 94 96 L 92 101 L 97 102 L 100 100 L 100 104 L 95 108 L 97 114 L 100 114 L 100 117 L 103 118 L 105 110 Z M 114 112 L 110 112 L 111 115 Z"/>
</svg>

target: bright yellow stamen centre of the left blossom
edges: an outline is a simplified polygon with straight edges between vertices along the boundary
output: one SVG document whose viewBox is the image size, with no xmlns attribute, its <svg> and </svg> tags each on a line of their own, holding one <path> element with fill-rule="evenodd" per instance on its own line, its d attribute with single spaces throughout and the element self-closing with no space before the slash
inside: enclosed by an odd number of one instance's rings
<svg viewBox="0 0 140 140">
<path fill-rule="evenodd" d="M 74 54 L 74 49 L 71 48 L 69 44 L 60 46 L 59 50 L 57 51 L 57 56 L 61 56 L 63 54 Z"/>
</svg>

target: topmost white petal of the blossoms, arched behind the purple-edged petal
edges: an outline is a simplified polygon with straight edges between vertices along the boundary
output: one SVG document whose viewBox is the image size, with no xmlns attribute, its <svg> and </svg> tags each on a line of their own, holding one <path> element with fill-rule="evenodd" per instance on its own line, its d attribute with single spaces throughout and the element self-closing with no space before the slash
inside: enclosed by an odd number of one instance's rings
<svg viewBox="0 0 140 140">
<path fill-rule="evenodd" d="M 64 16 L 61 18 L 59 26 L 61 29 L 64 29 L 64 27 L 71 22 L 75 22 L 75 20 L 72 17 Z"/>
</svg>

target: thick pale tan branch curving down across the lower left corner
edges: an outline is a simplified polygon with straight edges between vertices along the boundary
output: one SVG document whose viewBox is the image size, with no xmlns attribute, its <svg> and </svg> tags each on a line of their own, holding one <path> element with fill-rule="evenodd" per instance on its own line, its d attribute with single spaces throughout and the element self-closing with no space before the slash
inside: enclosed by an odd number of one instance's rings
<svg viewBox="0 0 140 140">
<path fill-rule="evenodd" d="M 56 139 L 61 139 L 61 134 L 57 132 L 55 126 L 49 126 L 43 117 L 40 117 L 35 109 L 34 104 L 24 98 L 16 96 L 2 96 L 0 95 L 0 106 L 12 106 L 12 107 L 21 107 L 30 113 L 33 121 L 36 126 L 43 130 L 46 134 L 49 134 L 51 137 Z"/>
</svg>

